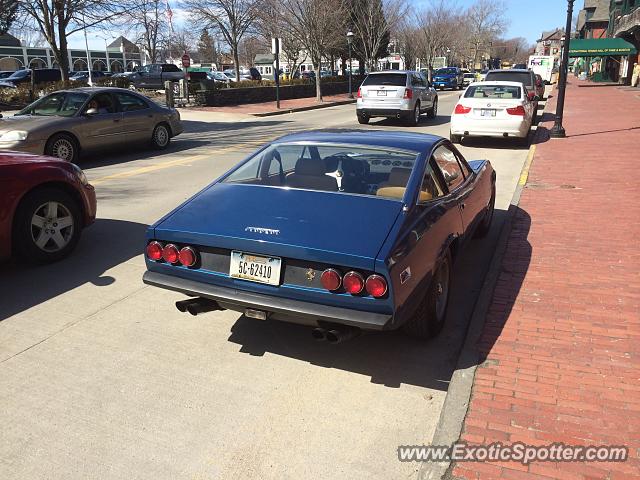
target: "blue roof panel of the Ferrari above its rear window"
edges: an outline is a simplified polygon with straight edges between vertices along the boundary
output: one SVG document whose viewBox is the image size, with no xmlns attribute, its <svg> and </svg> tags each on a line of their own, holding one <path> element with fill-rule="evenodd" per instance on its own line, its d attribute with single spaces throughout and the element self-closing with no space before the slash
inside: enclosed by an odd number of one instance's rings
<svg viewBox="0 0 640 480">
<path fill-rule="evenodd" d="M 442 140 L 442 137 L 424 133 L 402 131 L 385 132 L 382 130 L 364 129 L 324 129 L 313 130 L 311 132 L 291 133 L 274 140 L 273 143 L 346 143 L 424 152 L 431 150 L 433 145 L 440 140 Z"/>
</svg>

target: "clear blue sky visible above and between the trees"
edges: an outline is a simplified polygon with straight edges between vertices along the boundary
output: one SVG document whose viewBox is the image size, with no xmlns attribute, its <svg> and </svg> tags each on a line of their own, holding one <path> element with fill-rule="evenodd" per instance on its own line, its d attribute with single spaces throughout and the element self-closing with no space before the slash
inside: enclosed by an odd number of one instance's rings
<svg viewBox="0 0 640 480">
<path fill-rule="evenodd" d="M 428 3 L 428 0 L 409 0 L 416 7 Z M 173 10 L 174 26 L 185 21 L 186 14 L 182 9 L 177 8 L 175 0 L 169 0 Z M 451 4 L 461 8 L 467 8 L 474 3 L 474 0 L 452 0 Z M 530 44 L 540 38 L 540 34 L 546 30 L 553 30 L 556 27 L 564 27 L 567 18 L 566 0 L 505 0 L 507 10 L 505 12 L 509 27 L 505 33 L 505 38 L 524 37 Z M 578 0 L 574 5 L 574 15 L 582 8 L 584 2 Z M 535 7 L 535 11 L 532 11 Z M 542 13 L 540 13 L 542 12 Z M 110 32 L 112 38 L 117 36 L 117 32 Z M 96 35 L 105 35 L 102 32 L 88 31 L 89 48 L 103 49 L 104 40 Z M 75 34 L 70 37 L 72 48 L 84 48 L 84 37 L 82 34 Z"/>
</svg>

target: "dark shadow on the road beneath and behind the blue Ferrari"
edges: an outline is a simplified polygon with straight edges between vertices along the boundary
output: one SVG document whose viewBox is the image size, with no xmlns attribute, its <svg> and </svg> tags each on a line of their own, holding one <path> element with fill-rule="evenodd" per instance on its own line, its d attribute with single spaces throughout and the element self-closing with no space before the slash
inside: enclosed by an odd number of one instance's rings
<svg viewBox="0 0 640 480">
<path fill-rule="evenodd" d="M 506 211 L 496 210 L 491 233 L 472 241 L 456 259 L 447 322 L 434 339 L 418 340 L 389 331 L 365 333 L 332 345 L 314 340 L 309 326 L 240 316 L 229 341 L 241 345 L 240 351 L 249 355 L 271 353 L 355 372 L 390 388 L 408 384 L 446 391 L 506 216 Z"/>
</svg>

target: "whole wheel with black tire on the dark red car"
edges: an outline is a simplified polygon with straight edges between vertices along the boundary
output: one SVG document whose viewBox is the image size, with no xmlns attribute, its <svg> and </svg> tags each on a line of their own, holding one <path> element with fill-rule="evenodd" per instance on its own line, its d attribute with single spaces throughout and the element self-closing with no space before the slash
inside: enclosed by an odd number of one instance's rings
<svg viewBox="0 0 640 480">
<path fill-rule="evenodd" d="M 30 263 L 55 262 L 73 251 L 81 230 L 82 216 L 76 200 L 59 188 L 40 188 L 28 193 L 16 211 L 14 250 Z"/>
</svg>

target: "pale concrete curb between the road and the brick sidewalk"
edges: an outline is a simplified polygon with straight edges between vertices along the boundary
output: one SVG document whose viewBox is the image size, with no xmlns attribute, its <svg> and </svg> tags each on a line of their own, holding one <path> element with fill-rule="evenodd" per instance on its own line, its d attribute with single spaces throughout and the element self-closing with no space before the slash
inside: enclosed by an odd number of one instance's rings
<svg viewBox="0 0 640 480">
<path fill-rule="evenodd" d="M 543 113 L 546 109 L 545 105 Z M 464 425 L 464 419 L 467 416 L 467 410 L 469 408 L 469 400 L 471 399 L 473 380 L 479 366 L 478 360 L 480 357 L 476 344 L 482 335 L 485 318 L 491 306 L 493 292 L 502 268 L 502 260 L 507 250 L 513 218 L 520 203 L 522 190 L 529 178 L 529 170 L 536 152 L 536 140 L 538 140 L 540 136 L 541 130 L 536 129 L 532 144 L 529 147 L 529 153 L 520 171 L 518 184 L 509 203 L 507 217 L 498 234 L 496 249 L 491 257 L 489 269 L 473 307 L 473 313 L 471 314 L 464 344 L 458 357 L 456 369 L 449 382 L 449 388 L 447 389 L 447 395 L 440 412 L 440 419 L 436 425 L 431 445 L 451 445 L 458 441 L 462 433 L 462 426 Z M 454 478 L 451 474 L 452 468 L 453 464 L 451 462 L 422 462 L 418 470 L 417 478 L 418 480 L 452 479 Z"/>
</svg>

